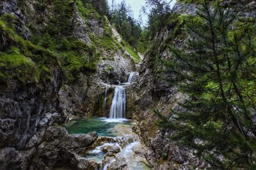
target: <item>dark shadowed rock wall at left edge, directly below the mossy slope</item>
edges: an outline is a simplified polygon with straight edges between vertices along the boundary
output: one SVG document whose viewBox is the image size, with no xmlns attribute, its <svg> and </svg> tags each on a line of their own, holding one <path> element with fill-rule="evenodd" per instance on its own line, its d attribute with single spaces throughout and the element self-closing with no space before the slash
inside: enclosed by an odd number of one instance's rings
<svg viewBox="0 0 256 170">
<path fill-rule="evenodd" d="M 53 77 L 47 89 L 42 85 L 29 86 L 16 81 L 12 81 L 10 87 L 1 87 L 1 148 L 24 148 L 46 111 L 57 109 L 60 68 L 55 68 Z"/>
</svg>

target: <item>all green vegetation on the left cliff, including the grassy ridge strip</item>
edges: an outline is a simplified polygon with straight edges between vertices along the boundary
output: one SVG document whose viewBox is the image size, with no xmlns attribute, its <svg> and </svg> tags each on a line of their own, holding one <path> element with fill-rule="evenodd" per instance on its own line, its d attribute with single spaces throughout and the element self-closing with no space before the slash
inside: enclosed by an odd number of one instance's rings
<svg viewBox="0 0 256 170">
<path fill-rule="evenodd" d="M 26 3 L 20 1 L 19 5 L 22 6 L 24 13 L 28 13 L 28 15 L 31 13 L 31 11 L 26 11 L 29 10 Z M 54 67 L 61 67 L 63 81 L 73 83 L 79 78 L 81 72 L 92 73 L 95 71 L 102 50 L 122 49 L 122 45 L 113 38 L 106 17 L 109 13 L 105 0 L 54 0 L 51 2 L 40 0 L 35 3 L 35 8 L 45 17 L 36 15 L 36 22 L 28 24 L 29 29 L 33 32 L 33 36 L 29 40 L 22 38 L 15 31 L 15 25 L 17 25 L 15 17 L 6 14 L 0 18 L 1 82 L 6 83 L 6 80 L 13 78 L 24 83 L 51 81 Z M 74 22 L 76 9 L 83 17 L 84 22 L 88 22 L 90 18 L 96 18 L 104 27 L 102 36 L 89 33 L 92 45 L 73 36 L 76 25 Z M 138 53 L 127 43 L 124 43 L 124 46 L 134 60 L 139 62 Z M 11 60 L 12 55 L 15 57 Z M 33 73 L 33 75 L 29 75 L 29 73 Z M 29 76 L 31 76 L 31 80 L 29 80 Z"/>
</svg>

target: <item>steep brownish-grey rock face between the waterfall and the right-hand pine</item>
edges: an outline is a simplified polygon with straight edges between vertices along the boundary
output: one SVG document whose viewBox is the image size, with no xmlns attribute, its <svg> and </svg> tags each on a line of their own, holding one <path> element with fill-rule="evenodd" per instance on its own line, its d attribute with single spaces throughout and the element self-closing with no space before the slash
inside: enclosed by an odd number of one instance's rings
<svg viewBox="0 0 256 170">
<path fill-rule="evenodd" d="M 177 7 L 179 8 L 179 6 Z M 157 108 L 166 117 L 171 117 L 171 109 L 181 108 L 177 103 L 185 101 L 187 96 L 181 94 L 175 85 L 167 83 L 159 77 L 170 78 L 172 74 L 156 73 L 154 70 L 163 69 L 164 66 L 157 64 L 154 57 L 161 59 L 172 59 L 168 48 L 164 47 L 168 43 L 180 48 L 186 36 L 178 34 L 173 39 L 168 39 L 173 29 L 164 27 L 162 31 L 157 32 L 154 43 L 154 50 L 147 53 L 141 64 L 138 82 L 134 83 L 134 92 L 129 95 L 134 114 L 132 118 L 137 122 L 135 131 L 140 134 L 151 152 L 147 155 L 147 160 L 154 169 L 200 169 L 205 166 L 204 162 L 193 156 L 193 151 L 178 143 L 171 141 L 168 137 L 173 132 L 157 127 L 157 116 L 154 110 Z M 149 128 L 150 127 L 150 128 Z"/>
</svg>

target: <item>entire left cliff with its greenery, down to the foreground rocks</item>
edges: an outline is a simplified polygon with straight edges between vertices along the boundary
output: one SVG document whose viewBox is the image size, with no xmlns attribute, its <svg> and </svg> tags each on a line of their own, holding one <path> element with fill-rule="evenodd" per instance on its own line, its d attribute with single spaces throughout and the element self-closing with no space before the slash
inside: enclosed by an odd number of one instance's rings
<svg viewBox="0 0 256 170">
<path fill-rule="evenodd" d="M 0 2 L 0 169 L 93 167 L 78 153 L 97 134 L 70 136 L 58 125 L 108 116 L 97 103 L 106 83 L 124 81 L 136 67 L 108 19 L 87 7 L 82 1 Z"/>
</svg>

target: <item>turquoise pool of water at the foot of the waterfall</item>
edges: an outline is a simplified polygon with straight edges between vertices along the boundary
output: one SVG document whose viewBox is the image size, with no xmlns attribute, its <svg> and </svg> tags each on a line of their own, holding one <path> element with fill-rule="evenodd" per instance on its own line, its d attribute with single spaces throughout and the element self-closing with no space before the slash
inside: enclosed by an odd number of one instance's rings
<svg viewBox="0 0 256 170">
<path fill-rule="evenodd" d="M 109 119 L 109 118 L 78 118 L 71 120 L 64 127 L 68 134 L 87 134 L 88 132 L 97 132 L 99 136 L 115 137 L 111 129 L 117 124 L 131 124 L 128 119 Z"/>
</svg>

